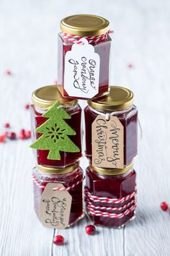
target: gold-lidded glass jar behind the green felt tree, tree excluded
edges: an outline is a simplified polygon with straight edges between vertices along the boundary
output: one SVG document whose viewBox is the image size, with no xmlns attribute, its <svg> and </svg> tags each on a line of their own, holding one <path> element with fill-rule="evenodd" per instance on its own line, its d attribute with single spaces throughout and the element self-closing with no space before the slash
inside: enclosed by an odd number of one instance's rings
<svg viewBox="0 0 170 256">
<path fill-rule="evenodd" d="M 64 168 L 79 161 L 79 158 L 81 158 L 81 107 L 77 100 L 63 98 L 57 85 L 45 86 L 32 93 L 32 105 L 30 106 L 32 142 L 35 142 L 35 140 L 42 136 L 41 133 L 35 132 L 35 129 L 40 127 L 45 121 L 50 120 L 42 115 L 45 114 L 56 101 L 60 103 L 60 108 L 63 108 L 66 114 L 70 116 L 70 118 L 63 118 L 63 126 L 68 124 L 71 129 L 76 132 L 75 135 L 69 136 L 69 139 L 79 148 L 79 152 L 78 150 L 76 150 L 76 152 L 69 152 L 69 150 L 68 152 L 60 151 L 61 159 L 55 160 L 49 159 L 49 150 L 33 150 L 37 164 Z M 55 124 L 57 123 L 58 119 L 56 119 Z M 58 148 L 58 150 L 60 150 L 60 148 Z"/>
</svg>

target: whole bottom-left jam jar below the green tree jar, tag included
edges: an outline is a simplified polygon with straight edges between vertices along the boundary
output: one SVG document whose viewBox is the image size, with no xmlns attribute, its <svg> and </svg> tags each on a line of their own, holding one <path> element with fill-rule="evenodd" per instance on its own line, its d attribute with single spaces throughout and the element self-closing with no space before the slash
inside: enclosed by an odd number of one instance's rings
<svg viewBox="0 0 170 256">
<path fill-rule="evenodd" d="M 46 218 L 48 227 L 58 228 L 58 221 L 61 220 L 62 215 L 64 215 L 64 207 L 61 208 L 61 197 L 64 191 L 67 191 L 72 197 L 71 200 L 71 210 L 68 216 L 68 226 L 72 225 L 80 218 L 83 217 L 83 201 L 82 201 L 82 182 L 83 182 L 83 171 L 78 163 L 74 163 L 72 166 L 66 168 L 50 168 L 47 166 L 37 165 L 33 168 L 32 180 L 34 185 L 34 200 L 35 200 L 35 213 L 37 217 Z M 42 199 L 43 192 L 49 184 L 55 185 L 59 184 L 59 189 L 61 184 L 62 189 L 58 194 L 58 191 L 48 190 L 48 200 L 44 200 L 46 203 L 45 212 L 48 213 L 48 217 L 40 217 L 40 203 Z M 53 199 L 55 198 L 55 200 Z M 52 205 L 50 204 L 51 202 Z M 60 210 L 61 209 L 61 210 Z M 64 228 L 68 227 L 65 226 Z"/>
</svg>

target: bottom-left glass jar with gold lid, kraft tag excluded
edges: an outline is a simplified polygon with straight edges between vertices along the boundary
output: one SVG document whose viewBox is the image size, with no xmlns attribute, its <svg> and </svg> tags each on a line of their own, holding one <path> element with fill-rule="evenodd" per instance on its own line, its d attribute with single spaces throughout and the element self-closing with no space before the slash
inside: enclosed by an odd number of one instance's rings
<svg viewBox="0 0 170 256">
<path fill-rule="evenodd" d="M 72 197 L 69 226 L 83 217 L 82 182 L 83 171 L 79 163 L 74 163 L 66 168 L 50 168 L 37 165 L 33 168 L 32 179 L 34 185 L 35 213 L 40 218 L 40 200 L 42 192 L 49 183 L 60 183 L 68 190 Z M 76 186 L 73 185 L 76 183 Z M 57 218 L 57 217 L 55 217 Z"/>
</svg>

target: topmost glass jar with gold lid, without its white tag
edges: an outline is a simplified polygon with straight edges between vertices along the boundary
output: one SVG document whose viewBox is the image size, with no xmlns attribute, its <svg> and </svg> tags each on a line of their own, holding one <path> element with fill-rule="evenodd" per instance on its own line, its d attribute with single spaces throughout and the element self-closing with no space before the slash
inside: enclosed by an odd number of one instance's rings
<svg viewBox="0 0 170 256">
<path fill-rule="evenodd" d="M 61 30 L 62 33 L 58 34 L 58 84 L 61 85 L 63 96 L 89 99 L 107 93 L 109 86 L 109 56 L 111 47 L 109 21 L 105 20 L 103 17 L 90 14 L 73 15 L 61 20 Z M 81 81 L 84 70 L 80 73 L 79 79 L 77 79 L 79 80 L 79 86 L 76 86 L 76 89 L 74 83 L 69 80 L 68 87 L 71 88 L 71 90 L 68 92 L 66 89 L 67 85 L 64 82 L 66 53 L 71 51 L 73 44 L 81 38 L 86 38 L 89 44 L 94 46 L 94 51 L 99 55 L 100 59 L 99 84 L 97 84 L 96 90 L 91 92 L 93 95 L 89 92 L 87 93 L 87 90 L 92 90 L 92 85 L 89 85 L 88 79 L 85 82 L 86 85 L 84 85 L 83 79 Z M 81 63 L 81 65 L 83 65 L 83 63 Z M 75 72 L 76 70 L 74 69 L 74 75 Z M 89 76 L 89 74 L 86 73 L 85 77 L 87 76 Z M 84 89 L 85 87 L 86 90 Z"/>
</svg>

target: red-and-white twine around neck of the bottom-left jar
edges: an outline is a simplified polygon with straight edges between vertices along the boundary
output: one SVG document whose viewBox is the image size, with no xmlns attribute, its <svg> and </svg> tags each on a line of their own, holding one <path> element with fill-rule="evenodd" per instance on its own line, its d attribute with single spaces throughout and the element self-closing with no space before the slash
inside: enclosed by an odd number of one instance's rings
<svg viewBox="0 0 170 256">
<path fill-rule="evenodd" d="M 77 175 L 75 176 L 75 180 L 78 179 L 78 178 L 80 178 L 80 177 L 81 177 L 81 179 L 79 179 L 77 182 L 75 182 L 75 183 L 74 183 L 73 185 L 71 185 L 70 187 L 54 187 L 53 190 L 54 190 L 54 191 L 63 191 L 63 190 L 68 191 L 68 190 L 71 190 L 71 189 L 73 189 L 74 187 L 76 187 L 77 185 L 81 184 L 81 182 L 83 182 L 84 177 L 83 177 L 83 175 L 82 175 L 81 173 L 79 173 L 79 174 L 77 174 Z M 32 180 L 33 180 L 33 182 L 35 182 L 35 184 L 37 185 L 37 187 L 40 187 L 41 189 L 45 189 L 45 185 L 40 184 L 40 182 L 37 181 L 37 179 L 35 178 L 34 175 L 32 175 Z M 60 182 L 58 182 L 58 183 L 60 183 Z"/>
</svg>

